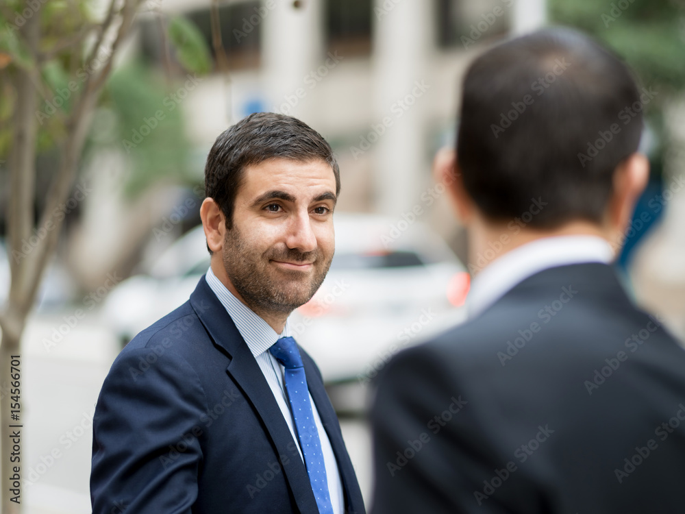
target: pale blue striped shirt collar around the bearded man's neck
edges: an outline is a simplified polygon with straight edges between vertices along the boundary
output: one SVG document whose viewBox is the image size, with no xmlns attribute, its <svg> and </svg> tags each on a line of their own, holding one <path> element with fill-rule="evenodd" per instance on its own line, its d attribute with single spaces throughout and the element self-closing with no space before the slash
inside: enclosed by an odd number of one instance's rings
<svg viewBox="0 0 685 514">
<path fill-rule="evenodd" d="M 258 316 L 251 308 L 240 302 L 238 298 L 227 289 L 227 287 L 216 278 L 212 267 L 207 270 L 206 276 L 208 286 L 219 298 L 219 302 L 224 306 L 227 313 L 233 319 L 238 328 L 238 332 L 245 339 L 247 347 L 253 356 L 258 356 L 273 345 L 280 337 L 290 335 L 290 326 L 286 321 L 286 326 L 281 334 L 277 334 L 264 319 Z"/>
</svg>

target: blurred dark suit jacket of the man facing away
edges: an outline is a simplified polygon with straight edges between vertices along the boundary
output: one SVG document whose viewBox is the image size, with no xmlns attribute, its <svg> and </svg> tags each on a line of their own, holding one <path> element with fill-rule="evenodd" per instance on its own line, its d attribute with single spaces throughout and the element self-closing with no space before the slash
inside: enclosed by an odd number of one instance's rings
<svg viewBox="0 0 685 514">
<path fill-rule="evenodd" d="M 609 266 L 523 280 L 377 386 L 374 514 L 685 512 L 685 351 Z"/>
</svg>

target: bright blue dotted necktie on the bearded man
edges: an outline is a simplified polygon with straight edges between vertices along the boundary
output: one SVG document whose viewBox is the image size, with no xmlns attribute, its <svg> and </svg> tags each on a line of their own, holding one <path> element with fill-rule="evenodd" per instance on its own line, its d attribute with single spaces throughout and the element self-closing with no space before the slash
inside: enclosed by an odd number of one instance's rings
<svg viewBox="0 0 685 514">
<path fill-rule="evenodd" d="M 319 430 L 316 430 L 312 402 L 309 401 L 307 378 L 304 374 L 302 358 L 297 350 L 297 343 L 292 337 L 282 337 L 269 348 L 269 352 L 285 367 L 284 377 L 290 412 L 295 420 L 295 432 L 304 455 L 307 474 L 316 496 L 319 513 L 332 514 L 333 504 L 328 493 L 326 467 L 323 463 Z"/>
</svg>

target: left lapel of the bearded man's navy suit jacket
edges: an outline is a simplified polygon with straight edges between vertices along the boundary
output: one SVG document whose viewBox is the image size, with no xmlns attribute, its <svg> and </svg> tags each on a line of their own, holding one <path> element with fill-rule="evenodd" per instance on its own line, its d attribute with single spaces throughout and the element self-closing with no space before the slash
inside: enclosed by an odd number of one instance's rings
<svg viewBox="0 0 685 514">
<path fill-rule="evenodd" d="M 207 329 L 214 344 L 231 358 L 226 371 L 238 388 L 253 405 L 266 432 L 279 456 L 288 456 L 288 464 L 283 466 L 292 496 L 303 514 L 318 514 L 316 498 L 312 491 L 309 476 L 301 461 L 297 448 L 292 445 L 290 429 L 276 403 L 273 393 L 266 383 L 257 361 L 251 354 L 247 343 L 242 339 L 233 320 L 208 286 L 201 278 L 195 292 L 190 295 L 190 304 L 195 309 L 203 326 Z M 309 377 L 308 377 L 309 378 Z"/>
</svg>

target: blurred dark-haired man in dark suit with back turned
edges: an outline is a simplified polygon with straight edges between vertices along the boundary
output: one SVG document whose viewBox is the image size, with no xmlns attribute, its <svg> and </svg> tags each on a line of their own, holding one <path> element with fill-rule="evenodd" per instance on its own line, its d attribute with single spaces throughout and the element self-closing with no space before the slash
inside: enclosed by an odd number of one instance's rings
<svg viewBox="0 0 685 514">
<path fill-rule="evenodd" d="M 374 514 L 683 511 L 685 351 L 610 266 L 654 94 L 570 29 L 471 64 L 435 166 L 471 260 L 495 255 L 469 321 L 379 374 Z"/>
</svg>

